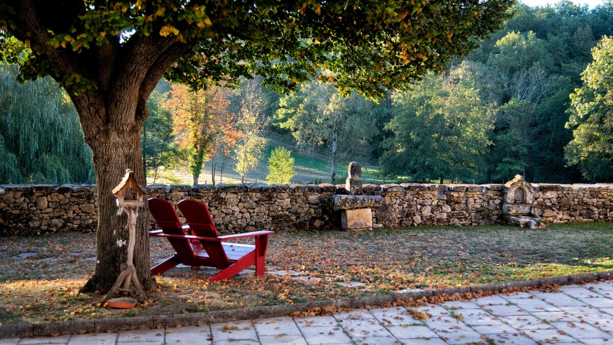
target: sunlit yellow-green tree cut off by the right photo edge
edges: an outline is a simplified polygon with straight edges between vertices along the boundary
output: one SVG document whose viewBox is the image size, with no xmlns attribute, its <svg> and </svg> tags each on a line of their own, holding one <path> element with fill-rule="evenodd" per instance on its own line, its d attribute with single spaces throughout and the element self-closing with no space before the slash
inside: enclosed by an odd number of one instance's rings
<svg viewBox="0 0 613 345">
<path fill-rule="evenodd" d="M 586 179 L 613 177 L 613 39 L 605 36 L 592 50 L 582 73 L 584 85 L 571 95 L 567 126 L 574 128 L 566 160 Z"/>
</svg>

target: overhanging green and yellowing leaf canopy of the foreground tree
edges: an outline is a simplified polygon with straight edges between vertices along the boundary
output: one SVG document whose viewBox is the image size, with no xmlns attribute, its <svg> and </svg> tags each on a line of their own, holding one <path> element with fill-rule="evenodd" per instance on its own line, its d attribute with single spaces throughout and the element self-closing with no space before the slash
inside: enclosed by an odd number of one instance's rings
<svg viewBox="0 0 613 345">
<path fill-rule="evenodd" d="M 20 63 L 23 79 L 50 74 L 75 91 L 110 86 L 113 72 L 157 77 L 172 64 L 166 76 L 194 88 L 255 72 L 273 89 L 319 77 L 381 95 L 382 85 L 403 87 L 476 48 L 511 2 L 3 0 L 0 58 Z M 28 59 L 15 58 L 9 33 L 31 48 Z M 126 57 L 147 62 L 113 68 Z"/>
</svg>

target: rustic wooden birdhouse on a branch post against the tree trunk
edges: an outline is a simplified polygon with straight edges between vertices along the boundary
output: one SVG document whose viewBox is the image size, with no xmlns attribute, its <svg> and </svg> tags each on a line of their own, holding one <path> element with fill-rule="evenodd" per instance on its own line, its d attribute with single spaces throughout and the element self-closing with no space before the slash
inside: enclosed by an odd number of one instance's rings
<svg viewBox="0 0 613 345">
<path fill-rule="evenodd" d="M 117 206 L 128 215 L 129 230 L 128 241 L 128 260 L 121 264 L 121 274 L 117 281 L 106 295 L 99 302 L 102 305 L 109 301 L 115 293 L 121 291 L 124 294 L 135 293 L 139 301 L 147 300 L 147 296 L 140 285 L 139 278 L 134 267 L 134 244 L 136 242 L 136 220 L 139 217 L 139 208 L 145 206 L 145 196 L 147 190 L 140 186 L 134 177 L 134 171 L 126 169 L 126 175 L 117 187 L 113 188 L 113 195 L 117 199 Z M 123 285 L 123 287 L 121 287 Z M 135 303 L 135 302 L 134 302 Z M 109 302 L 110 304 L 110 302 Z"/>
</svg>

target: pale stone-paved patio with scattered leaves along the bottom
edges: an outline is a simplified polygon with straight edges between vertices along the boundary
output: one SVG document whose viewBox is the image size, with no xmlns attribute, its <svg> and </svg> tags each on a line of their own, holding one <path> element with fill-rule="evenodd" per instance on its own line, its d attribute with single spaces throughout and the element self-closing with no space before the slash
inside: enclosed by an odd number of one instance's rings
<svg viewBox="0 0 613 345">
<path fill-rule="evenodd" d="M 221 324 L 57 337 L 26 344 L 613 344 L 613 281 L 450 301 L 421 308 L 357 309 L 334 316 L 277 317 Z M 425 312 L 423 320 L 412 314 Z M 422 314 L 425 315 L 425 314 Z"/>
</svg>

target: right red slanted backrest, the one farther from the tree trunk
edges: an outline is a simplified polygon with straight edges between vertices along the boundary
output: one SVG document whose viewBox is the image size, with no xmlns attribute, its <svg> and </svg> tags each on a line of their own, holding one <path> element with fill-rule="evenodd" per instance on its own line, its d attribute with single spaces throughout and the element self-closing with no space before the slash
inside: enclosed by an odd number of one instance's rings
<svg viewBox="0 0 613 345">
<path fill-rule="evenodd" d="M 219 233 L 215 228 L 215 223 L 208 212 L 207 205 L 197 200 L 186 199 L 180 201 L 177 206 L 181 214 L 188 222 L 193 235 L 201 237 L 218 237 Z M 225 268 L 230 265 L 221 242 L 200 241 L 202 247 L 207 250 L 208 257 L 215 262 L 217 268 Z"/>
</svg>

